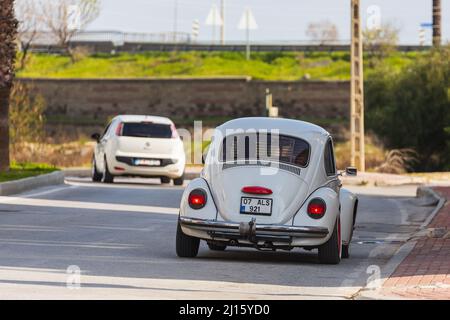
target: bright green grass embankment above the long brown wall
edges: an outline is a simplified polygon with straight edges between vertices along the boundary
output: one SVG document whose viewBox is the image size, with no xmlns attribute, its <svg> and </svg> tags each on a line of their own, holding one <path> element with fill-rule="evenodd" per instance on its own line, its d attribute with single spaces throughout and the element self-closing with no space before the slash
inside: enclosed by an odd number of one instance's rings
<svg viewBox="0 0 450 320">
<path fill-rule="evenodd" d="M 401 68 L 420 53 L 394 53 L 383 63 Z M 366 59 L 366 72 L 371 60 Z M 71 63 L 69 57 L 31 54 L 19 77 L 31 78 L 163 78 L 241 77 L 260 80 L 348 80 L 346 52 L 257 52 L 250 61 L 240 52 L 147 52 L 94 54 Z"/>
</svg>

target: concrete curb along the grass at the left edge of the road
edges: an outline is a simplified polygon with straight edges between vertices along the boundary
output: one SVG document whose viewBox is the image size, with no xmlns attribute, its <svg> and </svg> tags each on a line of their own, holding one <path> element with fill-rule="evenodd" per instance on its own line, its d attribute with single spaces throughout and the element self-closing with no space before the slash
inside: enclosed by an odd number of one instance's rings
<svg viewBox="0 0 450 320">
<path fill-rule="evenodd" d="M 0 196 L 9 196 L 12 194 L 29 191 L 35 188 L 52 186 L 62 183 L 64 183 L 64 173 L 62 171 L 55 171 L 36 177 L 0 183 Z"/>
</svg>

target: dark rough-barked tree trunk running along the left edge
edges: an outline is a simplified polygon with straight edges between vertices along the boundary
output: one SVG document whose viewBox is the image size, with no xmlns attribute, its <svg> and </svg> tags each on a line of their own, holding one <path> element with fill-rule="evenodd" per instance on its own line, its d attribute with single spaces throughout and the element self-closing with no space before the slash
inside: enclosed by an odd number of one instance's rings
<svg viewBox="0 0 450 320">
<path fill-rule="evenodd" d="M 0 0 L 0 170 L 9 169 L 9 95 L 14 78 L 17 20 L 14 0 Z"/>
</svg>

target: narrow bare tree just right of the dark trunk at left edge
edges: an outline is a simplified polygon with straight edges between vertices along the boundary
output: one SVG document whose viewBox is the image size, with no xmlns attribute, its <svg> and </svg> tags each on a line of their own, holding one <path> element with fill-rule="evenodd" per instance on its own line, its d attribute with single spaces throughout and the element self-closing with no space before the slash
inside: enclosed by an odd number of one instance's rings
<svg viewBox="0 0 450 320">
<path fill-rule="evenodd" d="M 18 69 L 21 70 L 25 68 L 31 45 L 39 36 L 43 26 L 35 0 L 16 0 L 15 9 L 19 21 L 17 39 L 22 53 Z"/>
</svg>

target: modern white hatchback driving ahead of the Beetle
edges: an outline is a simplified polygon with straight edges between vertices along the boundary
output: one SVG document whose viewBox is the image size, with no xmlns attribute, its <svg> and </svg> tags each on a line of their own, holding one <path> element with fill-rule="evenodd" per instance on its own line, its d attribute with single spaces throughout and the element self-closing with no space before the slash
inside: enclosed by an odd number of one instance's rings
<svg viewBox="0 0 450 320">
<path fill-rule="evenodd" d="M 112 183 L 115 176 L 173 179 L 182 185 L 186 156 L 174 123 L 164 117 L 120 115 L 97 141 L 92 159 L 92 180 Z"/>
</svg>

